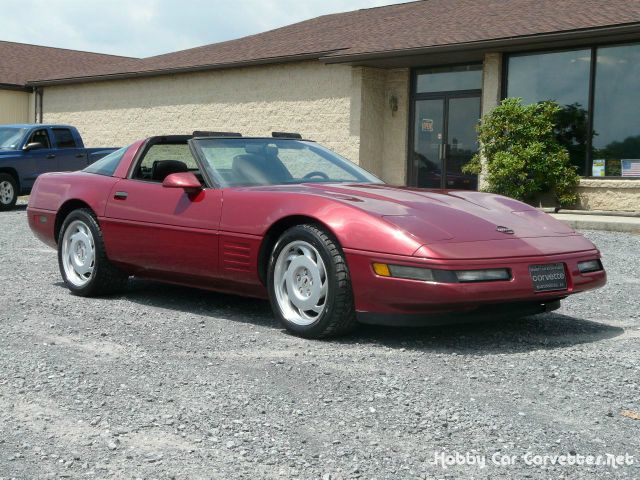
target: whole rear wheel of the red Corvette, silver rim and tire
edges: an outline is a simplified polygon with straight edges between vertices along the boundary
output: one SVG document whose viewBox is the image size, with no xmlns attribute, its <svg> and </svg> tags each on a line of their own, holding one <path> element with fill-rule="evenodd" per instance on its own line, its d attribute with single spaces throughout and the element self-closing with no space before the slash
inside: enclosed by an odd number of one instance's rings
<svg viewBox="0 0 640 480">
<path fill-rule="evenodd" d="M 83 297 L 120 292 L 128 279 L 107 258 L 100 225 L 87 208 L 65 218 L 58 236 L 58 265 L 69 290 Z"/>
</svg>

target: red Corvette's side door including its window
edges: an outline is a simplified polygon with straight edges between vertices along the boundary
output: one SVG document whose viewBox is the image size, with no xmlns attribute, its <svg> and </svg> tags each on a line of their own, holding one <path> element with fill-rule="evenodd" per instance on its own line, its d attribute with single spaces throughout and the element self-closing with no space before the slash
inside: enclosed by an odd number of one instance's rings
<svg viewBox="0 0 640 480">
<path fill-rule="evenodd" d="M 222 192 L 163 187 L 167 175 L 185 170 L 175 168 L 180 164 L 199 176 L 186 140 L 147 145 L 129 178 L 114 185 L 102 220 L 107 255 L 139 275 L 211 282 L 218 273 Z"/>
</svg>

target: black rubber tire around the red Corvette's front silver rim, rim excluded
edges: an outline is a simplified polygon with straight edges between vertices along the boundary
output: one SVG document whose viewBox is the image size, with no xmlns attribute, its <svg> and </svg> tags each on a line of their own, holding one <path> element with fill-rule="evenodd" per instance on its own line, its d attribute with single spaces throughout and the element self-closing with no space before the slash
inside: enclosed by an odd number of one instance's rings
<svg viewBox="0 0 640 480">
<path fill-rule="evenodd" d="M 274 274 L 282 250 L 291 242 L 311 244 L 322 258 L 326 268 L 327 294 L 325 307 L 309 325 L 289 321 L 278 304 Z M 310 224 L 296 225 L 285 231 L 276 242 L 267 273 L 269 300 L 275 317 L 288 331 L 305 338 L 326 338 L 344 335 L 357 325 L 349 269 L 338 242 L 324 229 Z"/>
</svg>

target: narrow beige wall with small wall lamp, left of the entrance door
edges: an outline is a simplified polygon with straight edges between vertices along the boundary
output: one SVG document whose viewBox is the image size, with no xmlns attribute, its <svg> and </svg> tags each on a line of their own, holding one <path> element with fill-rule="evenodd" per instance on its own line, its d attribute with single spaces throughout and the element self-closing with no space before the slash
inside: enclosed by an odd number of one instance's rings
<svg viewBox="0 0 640 480">
<path fill-rule="evenodd" d="M 409 69 L 354 69 L 360 105 L 360 163 L 385 182 L 403 185 L 407 175 Z M 354 95 L 355 97 L 355 95 Z M 397 110 L 391 107 L 397 104 Z"/>
</svg>

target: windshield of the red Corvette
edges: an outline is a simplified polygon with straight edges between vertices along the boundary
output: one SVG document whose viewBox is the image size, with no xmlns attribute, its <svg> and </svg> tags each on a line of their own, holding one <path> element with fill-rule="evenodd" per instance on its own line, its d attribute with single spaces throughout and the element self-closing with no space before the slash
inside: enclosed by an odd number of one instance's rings
<svg viewBox="0 0 640 480">
<path fill-rule="evenodd" d="M 221 187 L 296 183 L 383 183 L 314 142 L 270 138 L 193 140 L 205 168 Z"/>
</svg>

